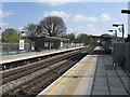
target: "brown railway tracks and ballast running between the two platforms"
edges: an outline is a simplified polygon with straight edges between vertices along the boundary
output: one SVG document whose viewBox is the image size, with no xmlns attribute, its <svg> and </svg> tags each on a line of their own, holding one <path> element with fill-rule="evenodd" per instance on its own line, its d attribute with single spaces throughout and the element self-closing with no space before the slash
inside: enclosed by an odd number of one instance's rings
<svg viewBox="0 0 130 97">
<path fill-rule="evenodd" d="M 93 48 L 73 51 L 2 71 L 2 96 L 36 96 Z"/>
</svg>

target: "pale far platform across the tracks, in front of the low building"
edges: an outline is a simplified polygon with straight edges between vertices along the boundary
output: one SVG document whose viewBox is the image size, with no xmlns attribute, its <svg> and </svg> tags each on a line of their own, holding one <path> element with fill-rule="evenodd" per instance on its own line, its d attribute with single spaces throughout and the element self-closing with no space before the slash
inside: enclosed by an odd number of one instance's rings
<svg viewBox="0 0 130 97">
<path fill-rule="evenodd" d="M 4 56 L 1 56 L 0 64 L 6 64 L 6 63 L 13 63 L 13 61 L 18 61 L 18 60 L 40 57 L 40 56 L 56 54 L 61 52 L 73 51 L 73 50 L 77 50 L 81 47 L 84 47 L 84 46 L 51 50 L 51 51 L 43 51 L 43 52 L 28 52 L 28 53 L 15 54 L 15 55 L 4 55 Z"/>
</svg>

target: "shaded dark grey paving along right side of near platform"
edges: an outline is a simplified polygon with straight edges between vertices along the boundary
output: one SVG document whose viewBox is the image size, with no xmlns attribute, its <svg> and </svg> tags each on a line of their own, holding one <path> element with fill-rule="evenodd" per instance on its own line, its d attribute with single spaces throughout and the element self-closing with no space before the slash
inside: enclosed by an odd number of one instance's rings
<svg viewBox="0 0 130 97">
<path fill-rule="evenodd" d="M 109 53 L 100 48 L 91 55 L 98 55 L 98 60 L 90 95 L 128 95 L 128 77 L 113 69 Z"/>
</svg>

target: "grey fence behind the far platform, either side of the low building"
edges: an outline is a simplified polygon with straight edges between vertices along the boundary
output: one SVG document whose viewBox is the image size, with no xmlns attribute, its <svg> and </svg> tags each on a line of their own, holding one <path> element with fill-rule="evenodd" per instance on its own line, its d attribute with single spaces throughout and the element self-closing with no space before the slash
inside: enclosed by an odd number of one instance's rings
<svg viewBox="0 0 130 97">
<path fill-rule="evenodd" d="M 62 48 L 68 48 L 68 47 L 74 47 L 74 46 L 82 46 L 82 45 L 83 45 L 82 43 L 63 43 Z M 29 46 L 30 46 L 29 43 L 25 43 L 24 51 L 20 51 L 20 44 L 18 43 L 0 43 L 0 54 L 10 55 L 10 54 L 30 52 Z M 31 46 L 31 50 L 34 50 L 34 46 Z"/>
</svg>

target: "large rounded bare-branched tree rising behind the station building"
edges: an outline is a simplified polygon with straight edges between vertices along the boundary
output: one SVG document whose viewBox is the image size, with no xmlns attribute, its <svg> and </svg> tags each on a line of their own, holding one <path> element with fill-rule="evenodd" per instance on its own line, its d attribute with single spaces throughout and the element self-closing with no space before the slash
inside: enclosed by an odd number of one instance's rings
<svg viewBox="0 0 130 97">
<path fill-rule="evenodd" d="M 41 34 L 50 37 L 63 36 L 66 33 L 64 20 L 57 16 L 46 17 L 39 23 L 39 28 L 41 28 Z"/>
</svg>

